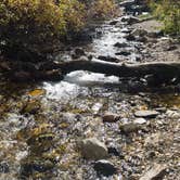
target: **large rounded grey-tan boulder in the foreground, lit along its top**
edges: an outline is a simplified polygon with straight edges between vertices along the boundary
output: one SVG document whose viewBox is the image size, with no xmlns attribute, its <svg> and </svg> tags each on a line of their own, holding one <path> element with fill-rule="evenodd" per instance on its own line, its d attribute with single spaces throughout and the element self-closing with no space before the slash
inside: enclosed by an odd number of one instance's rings
<svg viewBox="0 0 180 180">
<path fill-rule="evenodd" d="M 87 159 L 102 159 L 108 156 L 107 147 L 97 138 L 85 139 L 78 146 L 81 155 Z"/>
</svg>

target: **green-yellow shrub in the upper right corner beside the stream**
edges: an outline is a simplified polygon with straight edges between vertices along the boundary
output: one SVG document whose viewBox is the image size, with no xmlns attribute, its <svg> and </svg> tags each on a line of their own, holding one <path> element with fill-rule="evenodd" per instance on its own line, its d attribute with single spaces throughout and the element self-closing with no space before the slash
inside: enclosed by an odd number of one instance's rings
<svg viewBox="0 0 180 180">
<path fill-rule="evenodd" d="M 165 33 L 180 35 L 180 1 L 151 1 L 151 8 L 157 18 L 164 23 Z"/>
</svg>

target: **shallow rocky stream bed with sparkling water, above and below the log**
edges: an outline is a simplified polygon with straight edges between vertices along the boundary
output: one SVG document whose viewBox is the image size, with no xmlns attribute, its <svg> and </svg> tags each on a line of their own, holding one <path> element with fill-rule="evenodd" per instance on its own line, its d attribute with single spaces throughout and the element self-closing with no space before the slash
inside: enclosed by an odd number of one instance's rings
<svg viewBox="0 0 180 180">
<path fill-rule="evenodd" d="M 144 20 L 143 4 L 125 1 L 120 11 L 95 25 L 91 43 L 69 44 L 55 61 L 179 61 L 179 43 Z M 179 179 L 178 91 L 141 92 L 136 79 L 82 70 L 0 83 L 0 179 Z"/>
</svg>

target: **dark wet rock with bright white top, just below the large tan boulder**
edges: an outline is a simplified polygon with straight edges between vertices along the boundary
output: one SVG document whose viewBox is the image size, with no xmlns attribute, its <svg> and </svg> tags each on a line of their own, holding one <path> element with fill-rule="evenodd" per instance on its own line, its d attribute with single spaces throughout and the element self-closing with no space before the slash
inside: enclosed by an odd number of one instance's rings
<svg viewBox="0 0 180 180">
<path fill-rule="evenodd" d="M 113 176 L 117 172 L 115 166 L 108 160 L 99 160 L 94 164 L 94 169 L 99 176 L 103 175 L 105 177 Z"/>
</svg>

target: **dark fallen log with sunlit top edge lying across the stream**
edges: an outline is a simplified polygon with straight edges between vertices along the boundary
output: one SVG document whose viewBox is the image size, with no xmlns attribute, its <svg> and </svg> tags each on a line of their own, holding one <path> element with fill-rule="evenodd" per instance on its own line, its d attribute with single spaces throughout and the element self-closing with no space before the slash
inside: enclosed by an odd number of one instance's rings
<svg viewBox="0 0 180 180">
<path fill-rule="evenodd" d="M 153 63 L 107 63 L 103 61 L 72 61 L 59 64 L 63 74 L 74 70 L 89 70 L 118 77 L 144 77 L 153 75 L 162 78 L 180 77 L 180 62 L 153 62 Z"/>
</svg>

